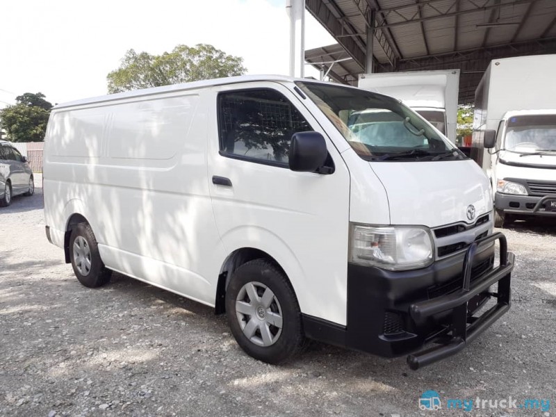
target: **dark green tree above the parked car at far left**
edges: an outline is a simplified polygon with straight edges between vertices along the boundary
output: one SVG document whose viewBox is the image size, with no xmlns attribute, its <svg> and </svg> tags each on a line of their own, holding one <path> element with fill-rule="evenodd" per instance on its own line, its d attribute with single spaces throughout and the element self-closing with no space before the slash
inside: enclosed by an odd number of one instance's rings
<svg viewBox="0 0 556 417">
<path fill-rule="evenodd" d="M 15 98 L 16 104 L 0 110 L 0 128 L 13 142 L 42 142 L 52 104 L 44 94 L 26 92 Z"/>
</svg>

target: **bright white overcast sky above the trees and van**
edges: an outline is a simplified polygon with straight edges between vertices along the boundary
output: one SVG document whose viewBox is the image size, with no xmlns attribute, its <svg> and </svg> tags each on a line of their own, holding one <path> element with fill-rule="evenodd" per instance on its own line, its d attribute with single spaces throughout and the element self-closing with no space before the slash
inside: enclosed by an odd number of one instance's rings
<svg viewBox="0 0 556 417">
<path fill-rule="evenodd" d="M 0 92 L 40 91 L 53 103 L 106 94 L 106 74 L 131 48 L 208 43 L 245 58 L 250 74 L 288 72 L 285 0 L 19 0 L 3 1 L 0 15 Z M 307 49 L 333 42 L 306 20 Z"/>
</svg>

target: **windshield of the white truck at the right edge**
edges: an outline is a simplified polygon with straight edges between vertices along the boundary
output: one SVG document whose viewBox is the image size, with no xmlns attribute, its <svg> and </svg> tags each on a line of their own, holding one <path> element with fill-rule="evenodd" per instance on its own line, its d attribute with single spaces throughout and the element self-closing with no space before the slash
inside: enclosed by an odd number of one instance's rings
<svg viewBox="0 0 556 417">
<path fill-rule="evenodd" d="M 510 117 L 505 149 L 520 154 L 556 153 L 556 115 Z"/>
</svg>

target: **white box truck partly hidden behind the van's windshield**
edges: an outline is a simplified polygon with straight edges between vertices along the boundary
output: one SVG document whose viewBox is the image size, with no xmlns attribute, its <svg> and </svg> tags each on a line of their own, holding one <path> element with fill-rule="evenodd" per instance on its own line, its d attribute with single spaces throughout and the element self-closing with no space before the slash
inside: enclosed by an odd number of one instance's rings
<svg viewBox="0 0 556 417">
<path fill-rule="evenodd" d="M 361 74 L 357 86 L 402 100 L 456 142 L 459 70 Z"/>
</svg>

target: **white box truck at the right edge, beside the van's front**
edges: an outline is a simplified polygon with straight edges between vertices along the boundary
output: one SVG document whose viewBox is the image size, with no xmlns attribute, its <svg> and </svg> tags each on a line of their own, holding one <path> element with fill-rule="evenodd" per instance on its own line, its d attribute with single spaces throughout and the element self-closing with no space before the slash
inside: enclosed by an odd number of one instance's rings
<svg viewBox="0 0 556 417">
<path fill-rule="evenodd" d="M 556 218 L 556 55 L 493 60 L 475 92 L 471 157 L 491 179 L 495 225 Z"/>
</svg>

